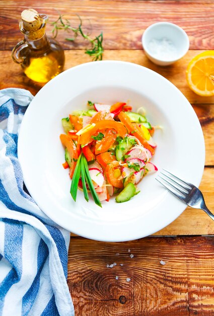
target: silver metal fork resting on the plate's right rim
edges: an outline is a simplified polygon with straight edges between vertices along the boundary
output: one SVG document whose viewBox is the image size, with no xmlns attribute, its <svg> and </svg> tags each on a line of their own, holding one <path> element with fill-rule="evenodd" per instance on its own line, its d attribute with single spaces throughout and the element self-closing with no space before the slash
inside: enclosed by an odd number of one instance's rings
<svg viewBox="0 0 214 316">
<path fill-rule="evenodd" d="M 201 191 L 193 184 L 179 179 L 165 169 L 163 170 L 165 173 L 161 172 L 161 174 L 164 177 L 158 175 L 159 178 L 156 178 L 156 180 L 187 205 L 204 210 L 204 212 L 214 221 L 214 215 L 206 207 Z"/>
</svg>

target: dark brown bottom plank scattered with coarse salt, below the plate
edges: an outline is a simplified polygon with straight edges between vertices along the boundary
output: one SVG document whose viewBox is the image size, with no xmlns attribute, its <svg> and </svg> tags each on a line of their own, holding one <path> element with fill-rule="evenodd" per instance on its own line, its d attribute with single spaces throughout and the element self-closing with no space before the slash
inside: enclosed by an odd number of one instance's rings
<svg viewBox="0 0 214 316">
<path fill-rule="evenodd" d="M 213 237 L 148 237 L 123 243 L 73 237 L 67 283 L 76 316 L 212 316 L 213 251 Z M 117 265 L 106 268 L 113 262 Z"/>
</svg>

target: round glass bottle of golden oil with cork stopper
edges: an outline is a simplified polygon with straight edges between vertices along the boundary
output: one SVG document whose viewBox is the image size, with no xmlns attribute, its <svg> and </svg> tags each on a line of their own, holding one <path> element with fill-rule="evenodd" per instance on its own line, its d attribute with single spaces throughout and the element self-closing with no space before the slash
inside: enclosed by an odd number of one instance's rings
<svg viewBox="0 0 214 316">
<path fill-rule="evenodd" d="M 55 39 L 45 34 L 46 15 L 27 9 L 21 18 L 19 27 L 25 38 L 14 47 L 12 58 L 21 64 L 27 77 L 46 83 L 62 71 L 64 51 Z"/>
</svg>

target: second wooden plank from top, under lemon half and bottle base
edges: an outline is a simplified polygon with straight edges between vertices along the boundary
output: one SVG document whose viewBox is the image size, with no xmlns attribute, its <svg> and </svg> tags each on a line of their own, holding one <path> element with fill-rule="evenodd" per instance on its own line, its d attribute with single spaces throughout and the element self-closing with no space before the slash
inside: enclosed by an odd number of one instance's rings
<svg viewBox="0 0 214 316">
<path fill-rule="evenodd" d="M 202 50 L 189 50 L 187 54 L 175 64 L 168 67 L 161 67 L 153 64 L 144 54 L 142 49 L 105 50 L 104 60 L 118 60 L 135 63 L 154 70 L 171 81 L 186 96 L 192 104 L 214 103 L 214 96 L 200 96 L 190 90 L 186 82 L 186 68 L 191 59 L 200 54 Z M 20 65 L 14 63 L 11 58 L 11 51 L 1 51 L 0 58 L 2 72 L 0 73 L 0 87 L 20 87 L 29 89 L 34 95 L 41 89 L 43 84 L 33 82 L 23 73 Z M 65 67 L 68 69 L 83 63 L 90 62 L 91 58 L 84 54 L 84 50 L 65 50 Z M 204 109 L 205 109 L 204 105 Z M 198 110 L 199 111 L 199 110 Z M 211 111 L 211 110 L 209 110 Z M 205 115 L 205 111 L 201 111 Z"/>
</svg>

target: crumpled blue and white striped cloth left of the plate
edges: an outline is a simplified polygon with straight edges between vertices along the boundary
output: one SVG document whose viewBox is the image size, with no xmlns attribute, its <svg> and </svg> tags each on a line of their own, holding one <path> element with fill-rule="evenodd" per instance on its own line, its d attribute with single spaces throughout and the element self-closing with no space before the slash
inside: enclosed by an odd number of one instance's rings
<svg viewBox="0 0 214 316">
<path fill-rule="evenodd" d="M 0 91 L 0 316 L 73 316 L 66 283 L 69 232 L 23 189 L 20 124 L 33 95 Z"/>
</svg>

